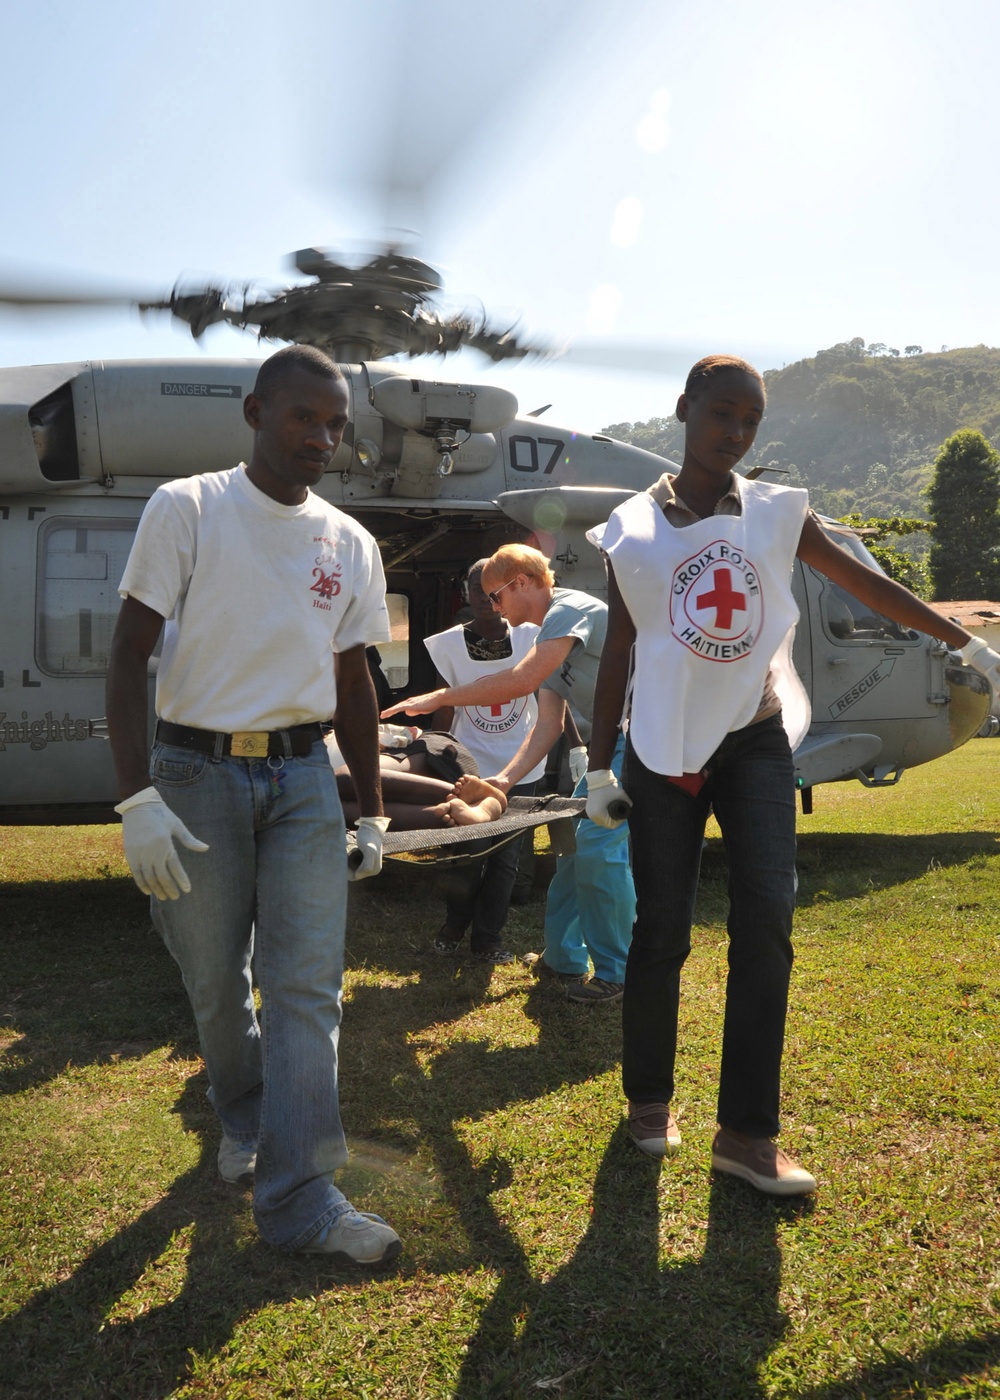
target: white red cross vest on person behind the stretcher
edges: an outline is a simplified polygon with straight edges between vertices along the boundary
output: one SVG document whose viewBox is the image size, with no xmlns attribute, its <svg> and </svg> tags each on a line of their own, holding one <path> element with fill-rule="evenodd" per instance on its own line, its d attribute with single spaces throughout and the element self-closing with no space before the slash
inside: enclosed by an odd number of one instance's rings
<svg viewBox="0 0 1000 1400">
<path fill-rule="evenodd" d="M 478 680 L 479 676 L 490 676 L 497 671 L 508 671 L 515 666 L 535 645 L 536 636 L 538 627 L 531 622 L 511 627 L 513 654 L 492 661 L 472 659 L 465 645 L 465 629 L 461 626 L 448 627 L 447 631 L 438 631 L 434 637 L 426 637 L 424 647 L 448 685 L 464 686 L 468 680 Z M 501 704 L 458 706 L 451 732 L 462 741 L 476 760 L 480 776 L 490 777 L 514 757 L 536 720 L 535 697 L 518 696 L 517 700 L 504 700 Z M 518 778 L 518 783 L 534 783 L 535 778 L 541 778 L 542 773 L 545 773 L 545 760 L 536 764 L 531 773 Z"/>
</svg>

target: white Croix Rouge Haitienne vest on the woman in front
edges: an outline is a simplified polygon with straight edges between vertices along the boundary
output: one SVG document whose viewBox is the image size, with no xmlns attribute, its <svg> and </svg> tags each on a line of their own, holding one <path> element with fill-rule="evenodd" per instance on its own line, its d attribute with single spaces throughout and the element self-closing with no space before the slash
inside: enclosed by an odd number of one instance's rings
<svg viewBox="0 0 1000 1400">
<path fill-rule="evenodd" d="M 703 769 L 758 713 L 769 669 L 793 749 L 810 725 L 791 665 L 791 566 L 808 493 L 741 480 L 739 497 L 741 515 L 678 529 L 643 491 L 588 536 L 611 559 L 636 624 L 627 728 L 654 773 Z"/>
</svg>

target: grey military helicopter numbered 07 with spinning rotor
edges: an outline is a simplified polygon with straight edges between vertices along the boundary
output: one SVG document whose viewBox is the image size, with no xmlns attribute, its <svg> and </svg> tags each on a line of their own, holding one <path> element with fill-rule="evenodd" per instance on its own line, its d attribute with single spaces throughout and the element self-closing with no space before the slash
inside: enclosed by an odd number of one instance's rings
<svg viewBox="0 0 1000 1400">
<path fill-rule="evenodd" d="M 606 434 L 542 423 L 543 409 L 520 414 L 507 389 L 388 363 L 431 343 L 440 354 L 471 344 L 493 360 L 545 353 L 485 319 L 440 316 L 441 280 L 426 263 L 387 248 L 350 267 L 305 249 L 296 266 L 314 280 L 272 297 L 204 287 L 139 305 L 171 312 L 196 337 L 225 321 L 319 344 L 340 363 L 350 426 L 318 491 L 378 542 L 392 623 L 380 657 L 394 697 L 434 685 L 423 637 L 452 623 L 468 564 L 503 543 L 536 545 L 560 584 L 606 596 L 585 532 L 669 463 Z M 258 364 L 0 370 L 0 825 L 113 820 L 101 715 L 118 582 L 157 486 L 246 458 L 242 399 Z M 854 531 L 822 525 L 877 567 Z M 796 752 L 804 812 L 822 783 L 892 785 L 978 732 L 989 683 L 944 644 L 873 615 L 801 561 L 793 587 L 801 612 L 793 659 L 812 701 Z M 154 657 L 151 683 L 155 665 Z"/>
</svg>

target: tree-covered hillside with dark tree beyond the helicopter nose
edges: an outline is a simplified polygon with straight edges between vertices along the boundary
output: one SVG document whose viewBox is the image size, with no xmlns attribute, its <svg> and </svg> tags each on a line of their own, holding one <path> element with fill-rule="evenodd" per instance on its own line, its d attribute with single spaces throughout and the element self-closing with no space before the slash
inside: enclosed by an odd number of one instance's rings
<svg viewBox="0 0 1000 1400">
<path fill-rule="evenodd" d="M 1000 599 L 1000 350 L 926 353 L 859 336 L 765 374 L 768 413 L 745 469 L 805 486 L 864 531 L 882 568 L 924 598 Z M 675 417 L 611 437 L 679 461 Z M 943 442 L 944 438 L 944 442 Z"/>
</svg>

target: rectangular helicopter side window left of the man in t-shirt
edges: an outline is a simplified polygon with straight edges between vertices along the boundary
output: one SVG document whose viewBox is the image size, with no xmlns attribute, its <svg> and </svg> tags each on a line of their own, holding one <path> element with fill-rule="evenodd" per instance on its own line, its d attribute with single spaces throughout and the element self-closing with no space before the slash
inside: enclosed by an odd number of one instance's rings
<svg viewBox="0 0 1000 1400">
<path fill-rule="evenodd" d="M 106 672 L 120 606 L 118 584 L 136 524 L 60 517 L 42 526 L 35 594 L 39 669 L 55 676 Z"/>
</svg>

